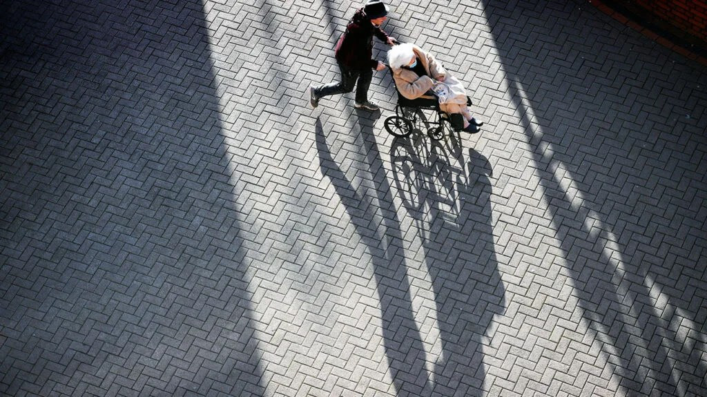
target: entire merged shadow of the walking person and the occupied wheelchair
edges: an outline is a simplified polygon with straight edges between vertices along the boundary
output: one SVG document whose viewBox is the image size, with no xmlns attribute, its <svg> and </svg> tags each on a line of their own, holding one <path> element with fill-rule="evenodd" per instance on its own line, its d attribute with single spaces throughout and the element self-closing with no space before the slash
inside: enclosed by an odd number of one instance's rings
<svg viewBox="0 0 707 397">
<path fill-rule="evenodd" d="M 366 171 L 354 186 L 341 170 L 317 119 L 316 142 L 322 173 L 331 179 L 356 232 L 368 248 L 382 307 L 385 353 L 398 396 L 481 396 L 484 386 L 483 342 L 493 315 L 504 306 L 504 289 L 491 233 L 491 174 L 488 161 L 473 150 L 469 163 L 446 160 L 450 148 L 433 146 L 426 160 L 407 143 L 393 147 L 394 162 L 404 160 L 416 196 L 404 197 L 423 241 L 432 280 L 442 352 L 428 372 L 423 335 L 411 303 L 409 270 L 404 259 L 401 223 L 395 211 L 373 124 L 359 114 Z M 399 141 L 407 142 L 407 141 Z M 405 152 L 405 154 L 402 154 Z M 440 160 L 441 159 L 441 160 Z M 366 172 L 367 174 L 362 174 Z M 442 182 L 442 185 L 438 182 Z M 399 190 L 410 191 L 396 174 Z"/>
</svg>

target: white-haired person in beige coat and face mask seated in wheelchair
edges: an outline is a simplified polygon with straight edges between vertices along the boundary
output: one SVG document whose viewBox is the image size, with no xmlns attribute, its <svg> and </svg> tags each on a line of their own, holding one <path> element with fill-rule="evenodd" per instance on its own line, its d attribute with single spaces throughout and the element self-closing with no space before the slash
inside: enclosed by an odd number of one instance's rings
<svg viewBox="0 0 707 397">
<path fill-rule="evenodd" d="M 409 100 L 438 98 L 440 110 L 450 119 L 456 114 L 462 117 L 463 131 L 479 131 L 482 123 L 477 123 L 467 107 L 464 86 L 432 54 L 413 44 L 396 45 L 388 51 L 388 66 L 400 95 Z"/>
</svg>

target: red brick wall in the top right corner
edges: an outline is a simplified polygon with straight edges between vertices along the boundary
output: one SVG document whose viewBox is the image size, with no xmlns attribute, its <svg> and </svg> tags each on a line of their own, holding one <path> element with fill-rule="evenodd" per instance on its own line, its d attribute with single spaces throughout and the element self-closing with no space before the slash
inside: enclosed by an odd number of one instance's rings
<svg viewBox="0 0 707 397">
<path fill-rule="evenodd" d="M 633 4 L 700 40 L 707 41 L 706 0 L 633 0 Z"/>
</svg>

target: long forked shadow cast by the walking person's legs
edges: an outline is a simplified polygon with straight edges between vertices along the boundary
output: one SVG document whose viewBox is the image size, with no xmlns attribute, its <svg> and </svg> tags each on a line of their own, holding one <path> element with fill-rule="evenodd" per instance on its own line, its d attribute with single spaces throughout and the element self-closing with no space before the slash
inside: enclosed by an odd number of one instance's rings
<svg viewBox="0 0 707 397">
<path fill-rule="evenodd" d="M 373 121 L 363 114 L 360 116 L 368 170 L 359 170 L 358 175 L 378 186 L 353 186 L 346 173 L 334 161 L 322 123 L 317 118 L 315 129 L 320 166 L 322 173 L 331 179 L 373 262 L 382 311 L 385 354 L 397 395 L 431 396 L 425 350 L 412 309 L 400 222 L 397 213 L 392 210 L 390 185 L 385 174 L 379 172 L 383 168 L 380 153 L 371 138 Z"/>
</svg>

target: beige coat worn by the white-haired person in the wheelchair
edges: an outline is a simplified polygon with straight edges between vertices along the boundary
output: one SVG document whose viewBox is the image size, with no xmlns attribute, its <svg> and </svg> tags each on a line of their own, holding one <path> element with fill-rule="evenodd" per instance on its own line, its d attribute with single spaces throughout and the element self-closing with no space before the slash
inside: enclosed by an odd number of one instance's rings
<svg viewBox="0 0 707 397">
<path fill-rule="evenodd" d="M 435 80 L 443 81 L 447 77 L 447 70 L 444 69 L 442 64 L 440 64 L 436 59 L 429 54 L 424 52 L 423 49 L 412 46 L 412 51 L 415 53 L 417 59 L 424 66 L 425 71 L 428 76 L 417 76 L 417 73 L 405 68 L 393 69 L 393 81 L 395 81 L 395 86 L 397 87 L 400 95 L 406 97 L 409 100 L 413 100 L 419 97 L 431 97 L 425 95 L 425 93 L 432 88 Z M 430 77 L 431 76 L 431 77 Z M 434 80 L 433 80 L 434 79 Z M 461 113 L 466 106 L 445 104 L 440 103 L 440 110 L 445 113 Z"/>
</svg>

